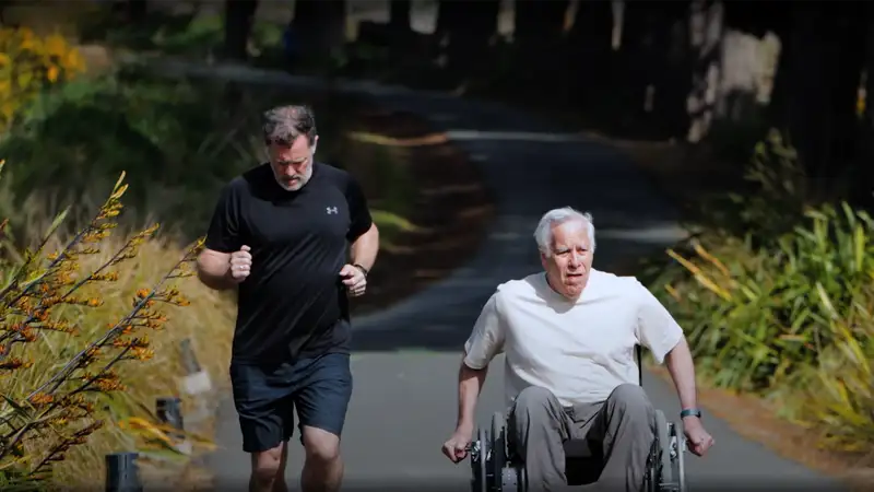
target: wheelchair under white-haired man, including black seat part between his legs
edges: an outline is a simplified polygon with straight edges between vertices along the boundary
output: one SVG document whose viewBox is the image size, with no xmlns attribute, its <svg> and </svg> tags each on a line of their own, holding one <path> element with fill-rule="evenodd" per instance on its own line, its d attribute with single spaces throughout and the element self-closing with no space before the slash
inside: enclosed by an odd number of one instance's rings
<svg viewBox="0 0 874 492">
<path fill-rule="evenodd" d="M 637 348 L 640 383 L 643 371 L 640 348 Z M 507 441 L 507 424 L 501 412 L 492 415 L 492 429 L 480 429 L 470 445 L 471 492 L 525 492 L 528 477 L 521 457 Z M 684 454 L 686 440 L 682 427 L 669 422 L 656 410 L 656 438 L 647 460 L 645 492 L 687 492 Z M 599 446 L 587 440 L 564 443 L 565 475 L 568 485 L 586 485 L 598 481 L 601 473 Z"/>
</svg>

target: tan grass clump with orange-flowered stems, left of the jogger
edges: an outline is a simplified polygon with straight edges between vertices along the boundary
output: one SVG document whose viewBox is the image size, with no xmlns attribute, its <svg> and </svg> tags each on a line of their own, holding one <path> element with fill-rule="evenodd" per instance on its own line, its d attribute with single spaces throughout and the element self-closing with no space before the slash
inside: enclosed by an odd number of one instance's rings
<svg viewBox="0 0 874 492">
<path fill-rule="evenodd" d="M 4 490 L 52 481 L 99 483 L 103 473 L 93 471 L 102 469 L 105 453 L 139 445 L 119 423 L 131 417 L 147 422 L 143 407 L 178 393 L 176 377 L 182 373 L 174 345 L 182 337 L 194 341 L 214 375 L 226 363 L 232 304 L 190 279 L 202 243 L 167 247 L 154 236 L 156 226 L 110 235 L 125 190 L 119 180 L 72 237 L 55 235 L 61 215 L 37 248 L 19 251 L 5 243 L 9 254 L 0 263 Z"/>
</svg>

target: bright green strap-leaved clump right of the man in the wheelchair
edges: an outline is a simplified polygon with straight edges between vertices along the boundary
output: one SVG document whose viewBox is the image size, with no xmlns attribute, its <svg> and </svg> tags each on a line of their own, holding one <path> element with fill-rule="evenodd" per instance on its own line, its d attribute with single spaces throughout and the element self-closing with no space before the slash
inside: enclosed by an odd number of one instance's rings
<svg viewBox="0 0 874 492">
<path fill-rule="evenodd" d="M 874 276 L 874 223 L 845 206 L 807 212 L 808 223 L 753 247 L 730 236 L 693 242 L 697 258 L 669 254 L 685 269 L 670 302 L 688 327 L 702 368 L 722 386 L 760 390 L 814 364 L 841 337 Z"/>
</svg>

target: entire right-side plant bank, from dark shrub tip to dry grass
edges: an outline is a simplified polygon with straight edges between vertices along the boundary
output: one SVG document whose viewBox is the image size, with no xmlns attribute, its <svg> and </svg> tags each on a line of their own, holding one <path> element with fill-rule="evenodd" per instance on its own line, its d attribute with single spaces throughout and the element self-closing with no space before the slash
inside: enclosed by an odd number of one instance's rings
<svg viewBox="0 0 874 492">
<path fill-rule="evenodd" d="M 706 231 L 670 249 L 657 294 L 716 385 L 779 395 L 784 412 L 847 450 L 874 444 L 874 220 L 842 202 L 805 206 L 794 151 L 777 133 L 735 212 L 746 234 Z"/>
</svg>

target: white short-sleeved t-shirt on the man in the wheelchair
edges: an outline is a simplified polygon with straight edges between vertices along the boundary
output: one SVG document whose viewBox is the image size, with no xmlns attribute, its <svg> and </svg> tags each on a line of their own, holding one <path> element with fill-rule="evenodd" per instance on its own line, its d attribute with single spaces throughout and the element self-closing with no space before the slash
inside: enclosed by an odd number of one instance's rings
<svg viewBox="0 0 874 492">
<path fill-rule="evenodd" d="M 551 390 L 564 406 L 604 401 L 623 383 L 639 384 L 635 347 L 661 364 L 683 337 L 668 309 L 634 277 L 591 269 L 571 302 L 545 273 L 498 285 L 464 344 L 464 363 L 485 367 L 506 354 L 509 407 L 528 386 Z"/>
</svg>

